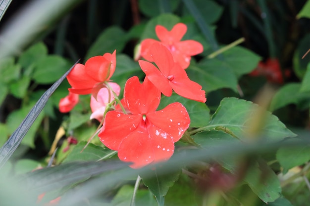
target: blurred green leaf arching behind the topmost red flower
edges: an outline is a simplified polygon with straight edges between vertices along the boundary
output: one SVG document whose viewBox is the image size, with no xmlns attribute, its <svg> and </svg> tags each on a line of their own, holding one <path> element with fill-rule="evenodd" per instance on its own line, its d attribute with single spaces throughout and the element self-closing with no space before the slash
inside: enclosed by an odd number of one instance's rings
<svg viewBox="0 0 310 206">
<path fill-rule="evenodd" d="M 173 28 L 173 26 L 179 22 L 180 22 L 180 18 L 173 14 L 161 14 L 159 16 L 156 16 L 155 18 L 152 18 L 147 23 L 141 35 L 141 40 L 148 39 L 148 38 L 158 40 L 156 33 L 155 33 L 156 25 L 161 25 L 165 27 L 168 31 L 170 31 Z"/>
</svg>

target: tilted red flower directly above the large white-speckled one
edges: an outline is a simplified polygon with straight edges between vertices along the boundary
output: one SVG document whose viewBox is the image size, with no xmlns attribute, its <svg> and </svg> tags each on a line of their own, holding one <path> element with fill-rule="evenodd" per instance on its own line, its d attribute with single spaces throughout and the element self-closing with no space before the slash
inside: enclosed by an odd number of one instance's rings
<svg viewBox="0 0 310 206">
<path fill-rule="evenodd" d="M 185 70 L 173 62 L 170 51 L 159 43 L 154 43 L 149 49 L 149 54 L 154 64 L 139 60 L 139 64 L 146 77 L 166 96 L 171 96 L 172 89 L 175 93 L 188 99 L 206 102 L 206 92 L 197 82 L 191 81 Z"/>
</svg>

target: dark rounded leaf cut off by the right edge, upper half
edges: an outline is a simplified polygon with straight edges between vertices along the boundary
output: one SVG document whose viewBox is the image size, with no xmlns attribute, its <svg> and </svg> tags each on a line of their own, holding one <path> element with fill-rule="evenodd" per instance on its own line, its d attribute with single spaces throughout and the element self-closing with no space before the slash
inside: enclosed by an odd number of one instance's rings
<svg viewBox="0 0 310 206">
<path fill-rule="evenodd" d="M 295 50 L 294 56 L 293 56 L 293 69 L 296 74 L 296 76 L 299 79 L 303 79 L 306 71 L 308 63 L 310 62 L 310 55 L 306 55 L 305 58 L 302 58 L 304 54 L 309 50 L 310 45 L 310 34 L 307 34 L 304 36 L 304 38 L 299 41 L 298 47 Z"/>
</svg>

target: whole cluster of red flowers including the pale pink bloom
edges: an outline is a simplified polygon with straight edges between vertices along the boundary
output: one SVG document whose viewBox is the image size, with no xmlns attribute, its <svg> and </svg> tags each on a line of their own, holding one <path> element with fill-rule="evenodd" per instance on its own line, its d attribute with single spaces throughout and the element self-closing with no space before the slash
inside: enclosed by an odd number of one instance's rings
<svg viewBox="0 0 310 206">
<path fill-rule="evenodd" d="M 202 44 L 181 41 L 187 31 L 182 23 L 171 31 L 157 25 L 155 31 L 160 41 L 141 42 L 140 54 L 146 61 L 139 60 L 139 65 L 146 77 L 142 83 L 136 76 L 129 78 L 122 100 L 118 99 L 120 86 L 110 81 L 116 67 L 114 51 L 92 57 L 85 65 L 77 64 L 67 76 L 72 86 L 69 95 L 59 103 L 59 110 L 68 112 L 78 101 L 73 93 L 92 94 L 91 119 L 103 122 L 100 140 L 107 148 L 118 151 L 121 161 L 132 163 L 132 168 L 168 160 L 174 143 L 190 125 L 189 114 L 179 102 L 156 111 L 161 93 L 171 96 L 174 91 L 188 99 L 207 101 L 202 86 L 191 81 L 185 71 L 191 56 L 203 52 Z"/>
</svg>

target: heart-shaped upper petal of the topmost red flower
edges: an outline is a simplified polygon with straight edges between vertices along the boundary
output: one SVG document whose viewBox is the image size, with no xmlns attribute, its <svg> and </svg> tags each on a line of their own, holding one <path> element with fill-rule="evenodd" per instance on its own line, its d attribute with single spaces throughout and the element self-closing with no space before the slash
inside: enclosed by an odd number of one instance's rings
<svg viewBox="0 0 310 206">
<path fill-rule="evenodd" d="M 168 32 L 165 27 L 157 25 L 155 31 L 160 41 L 171 44 L 173 42 L 181 41 L 187 31 L 187 26 L 183 23 L 178 23 L 174 25 L 170 32 Z"/>
</svg>

